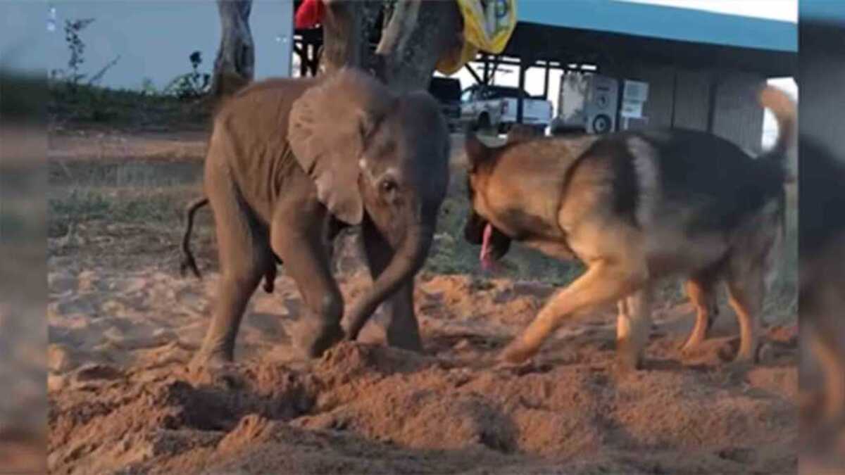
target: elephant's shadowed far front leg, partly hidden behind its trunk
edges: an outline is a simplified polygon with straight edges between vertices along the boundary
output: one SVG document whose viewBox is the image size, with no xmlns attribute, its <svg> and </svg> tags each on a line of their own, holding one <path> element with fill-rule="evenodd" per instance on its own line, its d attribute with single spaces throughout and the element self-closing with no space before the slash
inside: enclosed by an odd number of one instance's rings
<svg viewBox="0 0 845 475">
<path fill-rule="evenodd" d="M 376 279 L 390 263 L 390 259 L 393 259 L 394 252 L 381 232 L 368 219 L 363 221 L 362 237 L 370 274 L 373 279 Z M 420 341 L 419 325 L 414 314 L 413 276 L 385 300 L 383 305 L 388 316 L 385 329 L 387 344 L 391 347 L 421 352 L 423 343 Z"/>
</svg>

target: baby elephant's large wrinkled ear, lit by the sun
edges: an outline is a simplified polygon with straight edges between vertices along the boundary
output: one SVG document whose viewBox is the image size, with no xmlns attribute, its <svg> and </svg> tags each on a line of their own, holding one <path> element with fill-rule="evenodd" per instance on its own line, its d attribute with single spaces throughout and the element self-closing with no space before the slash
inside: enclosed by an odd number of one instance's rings
<svg viewBox="0 0 845 475">
<path fill-rule="evenodd" d="M 317 197 L 348 224 L 363 218 L 358 164 L 365 141 L 387 114 L 394 96 L 377 79 L 343 68 L 293 102 L 287 138 Z"/>
</svg>

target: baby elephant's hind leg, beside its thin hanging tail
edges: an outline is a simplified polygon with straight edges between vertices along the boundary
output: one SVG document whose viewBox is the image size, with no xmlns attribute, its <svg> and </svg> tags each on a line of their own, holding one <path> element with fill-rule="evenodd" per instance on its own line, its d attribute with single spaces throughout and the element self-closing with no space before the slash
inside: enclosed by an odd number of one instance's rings
<svg viewBox="0 0 845 475">
<path fill-rule="evenodd" d="M 209 199 L 215 214 L 221 278 L 211 324 L 193 365 L 232 361 L 237 330 L 249 298 L 261 277 L 275 267 L 267 231 L 243 202 L 234 183 L 228 179 L 213 183 L 210 177 L 206 181 L 210 184 L 208 189 L 214 190 Z"/>
</svg>

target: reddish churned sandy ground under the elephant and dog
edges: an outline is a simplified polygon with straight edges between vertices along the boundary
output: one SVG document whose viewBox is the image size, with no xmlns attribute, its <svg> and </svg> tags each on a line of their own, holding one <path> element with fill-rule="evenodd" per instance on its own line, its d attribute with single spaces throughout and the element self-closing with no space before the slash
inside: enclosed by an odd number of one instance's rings
<svg viewBox="0 0 845 475">
<path fill-rule="evenodd" d="M 73 172 L 73 153 L 57 157 Z M 610 369 L 611 308 L 564 325 L 532 363 L 500 368 L 493 358 L 554 287 L 423 274 L 423 354 L 385 347 L 376 321 L 364 342 L 302 362 L 287 329 L 303 308 L 281 267 L 243 321 L 241 378 L 209 381 L 185 363 L 215 271 L 178 276 L 177 243 L 155 227 L 93 221 L 70 234 L 51 239 L 48 261 L 53 473 L 797 471 L 794 320 L 767 320 L 764 361 L 741 375 L 723 368 L 738 343 L 727 308 L 700 352 L 679 354 L 686 303 L 657 305 L 633 374 Z M 354 253 L 341 260 L 348 301 L 369 280 Z"/>
</svg>

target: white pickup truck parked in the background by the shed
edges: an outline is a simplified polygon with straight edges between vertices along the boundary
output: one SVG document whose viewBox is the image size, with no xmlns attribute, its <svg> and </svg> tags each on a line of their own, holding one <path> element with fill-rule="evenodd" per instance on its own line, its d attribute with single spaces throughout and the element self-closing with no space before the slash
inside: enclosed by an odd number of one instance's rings
<svg viewBox="0 0 845 475">
<path fill-rule="evenodd" d="M 500 85 L 473 85 L 461 93 L 461 121 L 481 130 L 506 134 L 516 123 L 517 100 L 522 96 L 522 123 L 544 131 L 552 121 L 550 101 L 524 90 Z"/>
</svg>

